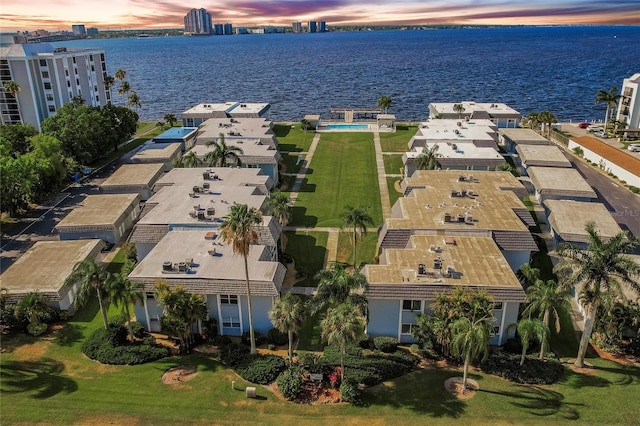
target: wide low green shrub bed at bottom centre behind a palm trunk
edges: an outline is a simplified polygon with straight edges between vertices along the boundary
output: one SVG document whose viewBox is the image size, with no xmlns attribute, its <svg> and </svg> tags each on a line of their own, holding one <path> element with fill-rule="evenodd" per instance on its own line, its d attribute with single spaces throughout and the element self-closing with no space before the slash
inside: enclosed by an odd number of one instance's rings
<svg viewBox="0 0 640 426">
<path fill-rule="evenodd" d="M 344 356 L 345 376 L 356 383 L 373 386 L 408 373 L 417 362 L 415 355 L 405 351 L 384 354 L 350 347 Z M 340 365 L 340 349 L 335 346 L 325 347 L 320 363 Z"/>
</svg>

